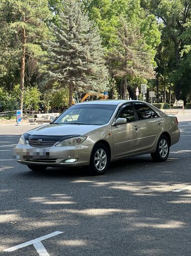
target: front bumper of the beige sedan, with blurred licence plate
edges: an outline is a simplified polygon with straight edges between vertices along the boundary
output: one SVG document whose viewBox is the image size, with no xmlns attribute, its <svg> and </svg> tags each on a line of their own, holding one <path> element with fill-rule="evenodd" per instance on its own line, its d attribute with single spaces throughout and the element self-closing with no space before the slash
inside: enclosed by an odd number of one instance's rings
<svg viewBox="0 0 191 256">
<path fill-rule="evenodd" d="M 55 167 L 89 165 L 93 145 L 79 144 L 68 147 L 31 147 L 19 144 L 13 151 L 14 157 L 21 164 L 45 165 Z M 67 159 L 77 159 L 74 163 L 65 163 Z"/>
</svg>

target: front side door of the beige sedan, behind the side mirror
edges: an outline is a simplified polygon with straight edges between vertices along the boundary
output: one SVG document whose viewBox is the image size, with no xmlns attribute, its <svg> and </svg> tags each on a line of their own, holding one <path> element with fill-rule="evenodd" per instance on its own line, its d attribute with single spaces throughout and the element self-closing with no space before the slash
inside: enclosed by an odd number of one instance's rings
<svg viewBox="0 0 191 256">
<path fill-rule="evenodd" d="M 114 158 L 136 153 L 140 150 L 139 121 L 131 103 L 121 107 L 117 118 L 126 118 L 127 123 L 112 125 Z"/>
</svg>

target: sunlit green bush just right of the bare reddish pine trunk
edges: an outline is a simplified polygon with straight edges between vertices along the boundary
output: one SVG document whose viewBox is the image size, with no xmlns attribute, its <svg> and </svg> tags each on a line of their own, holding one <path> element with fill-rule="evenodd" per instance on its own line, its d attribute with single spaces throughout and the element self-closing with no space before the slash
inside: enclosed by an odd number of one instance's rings
<svg viewBox="0 0 191 256">
<path fill-rule="evenodd" d="M 37 86 L 31 87 L 28 86 L 24 90 L 24 98 L 23 103 L 25 105 L 25 109 L 27 110 L 38 110 L 41 93 Z"/>
</svg>

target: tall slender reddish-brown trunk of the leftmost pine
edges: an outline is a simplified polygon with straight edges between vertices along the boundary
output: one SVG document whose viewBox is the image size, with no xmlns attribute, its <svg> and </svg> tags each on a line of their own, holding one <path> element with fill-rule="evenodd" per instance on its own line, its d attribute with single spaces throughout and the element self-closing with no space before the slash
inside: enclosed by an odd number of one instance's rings
<svg viewBox="0 0 191 256">
<path fill-rule="evenodd" d="M 23 17 L 23 22 L 25 22 L 25 16 Z M 25 26 L 23 27 L 23 38 L 22 38 L 22 58 L 21 58 L 21 94 L 20 94 L 20 109 L 21 116 L 23 116 L 23 92 L 24 92 L 24 84 L 25 84 L 25 54 L 26 54 L 26 31 Z"/>
</svg>

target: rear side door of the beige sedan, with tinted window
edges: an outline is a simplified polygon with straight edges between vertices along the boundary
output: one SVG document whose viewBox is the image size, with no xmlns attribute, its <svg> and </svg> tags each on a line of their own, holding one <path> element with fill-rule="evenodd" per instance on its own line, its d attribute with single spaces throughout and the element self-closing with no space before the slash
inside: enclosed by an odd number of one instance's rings
<svg viewBox="0 0 191 256">
<path fill-rule="evenodd" d="M 162 132 L 163 118 L 141 102 L 133 103 L 140 120 L 140 151 L 152 149 Z"/>
</svg>

